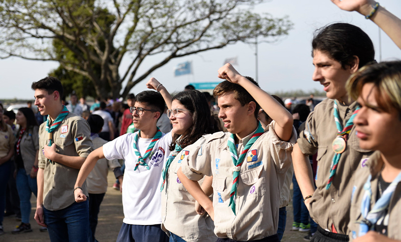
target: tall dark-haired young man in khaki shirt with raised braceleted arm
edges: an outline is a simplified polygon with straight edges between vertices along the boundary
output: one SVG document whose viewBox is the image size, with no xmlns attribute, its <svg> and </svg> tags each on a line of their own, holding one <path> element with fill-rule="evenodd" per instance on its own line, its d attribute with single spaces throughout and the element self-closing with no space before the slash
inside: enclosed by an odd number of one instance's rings
<svg viewBox="0 0 401 242">
<path fill-rule="evenodd" d="M 370 18 L 393 40 L 399 40 L 399 20 L 374 1 L 332 0 L 339 8 Z M 398 45 L 400 45 L 399 41 Z M 373 44 L 358 27 L 333 24 L 318 31 L 312 41 L 312 79 L 326 91 L 305 122 L 293 150 L 294 172 L 310 215 L 319 226 L 311 241 L 348 241 L 352 180 L 370 152 L 359 147 L 353 118 L 358 105 L 348 97 L 345 83 L 362 66 L 374 61 Z M 308 155 L 317 152 L 313 184 Z"/>
</svg>

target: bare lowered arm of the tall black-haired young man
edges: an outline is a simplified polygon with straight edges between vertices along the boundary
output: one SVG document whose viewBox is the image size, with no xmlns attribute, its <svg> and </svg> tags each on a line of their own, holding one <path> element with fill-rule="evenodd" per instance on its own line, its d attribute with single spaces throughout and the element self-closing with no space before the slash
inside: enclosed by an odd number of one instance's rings
<svg viewBox="0 0 401 242">
<path fill-rule="evenodd" d="M 302 153 L 298 143 L 294 145 L 292 150 L 292 163 L 303 197 L 313 194 L 315 192 L 315 185 L 313 183 L 312 167 L 309 157 Z"/>
</svg>

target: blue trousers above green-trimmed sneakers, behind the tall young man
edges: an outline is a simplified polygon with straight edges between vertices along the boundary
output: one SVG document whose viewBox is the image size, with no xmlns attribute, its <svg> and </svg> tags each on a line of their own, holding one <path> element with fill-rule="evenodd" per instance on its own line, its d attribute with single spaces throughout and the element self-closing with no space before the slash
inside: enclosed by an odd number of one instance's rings
<svg viewBox="0 0 401 242">
<path fill-rule="evenodd" d="M 306 208 L 304 199 L 302 197 L 301 189 L 299 188 L 295 174 L 292 176 L 294 194 L 292 197 L 292 204 L 294 207 L 294 222 L 308 224 L 309 223 L 309 211 Z"/>
</svg>

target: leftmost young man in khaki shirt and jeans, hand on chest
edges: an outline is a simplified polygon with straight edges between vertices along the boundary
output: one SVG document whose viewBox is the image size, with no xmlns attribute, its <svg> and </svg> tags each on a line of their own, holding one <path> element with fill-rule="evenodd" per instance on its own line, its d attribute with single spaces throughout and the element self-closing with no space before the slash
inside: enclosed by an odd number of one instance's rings
<svg viewBox="0 0 401 242">
<path fill-rule="evenodd" d="M 35 105 L 49 115 L 39 128 L 38 197 L 35 220 L 47 226 L 51 241 L 87 241 L 88 201 L 76 203 L 74 189 L 88 194 L 86 183 L 74 188 L 79 169 L 92 151 L 88 123 L 61 104 L 63 86 L 54 77 L 32 83 Z"/>
</svg>

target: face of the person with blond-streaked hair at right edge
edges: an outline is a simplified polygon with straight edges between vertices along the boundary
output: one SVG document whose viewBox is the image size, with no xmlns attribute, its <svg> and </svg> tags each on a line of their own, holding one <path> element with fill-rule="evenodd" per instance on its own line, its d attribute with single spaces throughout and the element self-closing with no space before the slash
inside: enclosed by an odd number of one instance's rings
<svg viewBox="0 0 401 242">
<path fill-rule="evenodd" d="M 379 150 L 382 153 L 399 152 L 401 121 L 395 108 L 384 111 L 376 100 L 377 89 L 366 83 L 358 97 L 361 106 L 354 118 L 359 146 L 362 149 Z"/>
</svg>

